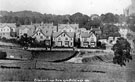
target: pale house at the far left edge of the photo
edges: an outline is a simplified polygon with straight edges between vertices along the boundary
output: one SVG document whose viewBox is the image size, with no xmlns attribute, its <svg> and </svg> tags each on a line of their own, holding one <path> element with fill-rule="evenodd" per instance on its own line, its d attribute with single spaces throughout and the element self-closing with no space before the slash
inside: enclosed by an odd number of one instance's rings
<svg viewBox="0 0 135 82">
<path fill-rule="evenodd" d="M 11 39 L 16 37 L 16 24 L 15 23 L 1 23 L 0 24 L 0 37 Z"/>
</svg>

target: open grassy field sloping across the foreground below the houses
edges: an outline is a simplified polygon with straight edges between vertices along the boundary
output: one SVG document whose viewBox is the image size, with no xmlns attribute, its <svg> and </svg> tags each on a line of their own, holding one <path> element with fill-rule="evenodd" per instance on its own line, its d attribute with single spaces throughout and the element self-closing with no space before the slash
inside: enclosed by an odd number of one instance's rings
<svg viewBox="0 0 135 82">
<path fill-rule="evenodd" d="M 88 82 L 134 82 L 135 56 L 126 67 L 112 63 L 95 61 L 89 63 L 48 62 L 70 58 L 74 52 L 42 52 L 31 58 L 31 52 L 17 49 L 4 49 L 10 55 L 25 60 L 0 60 L 1 81 L 46 80 L 87 80 Z M 88 53 L 91 55 L 91 53 Z M 86 57 L 88 56 L 86 54 Z M 21 56 L 21 57 L 20 57 Z M 42 60 L 42 61 L 41 61 Z M 133 81 L 132 81 L 133 80 Z M 60 82 L 60 81 L 57 81 Z M 70 81 L 71 82 L 71 81 Z M 74 82 L 74 81 L 72 81 Z"/>
</svg>

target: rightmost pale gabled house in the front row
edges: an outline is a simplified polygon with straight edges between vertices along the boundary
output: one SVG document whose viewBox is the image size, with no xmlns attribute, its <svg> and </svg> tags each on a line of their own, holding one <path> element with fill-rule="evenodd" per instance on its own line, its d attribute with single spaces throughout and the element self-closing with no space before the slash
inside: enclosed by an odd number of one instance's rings
<svg viewBox="0 0 135 82">
<path fill-rule="evenodd" d="M 96 47 L 97 37 L 93 32 L 80 34 L 81 47 Z"/>
</svg>

